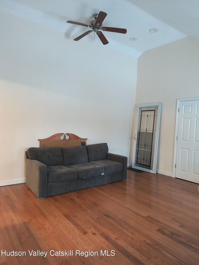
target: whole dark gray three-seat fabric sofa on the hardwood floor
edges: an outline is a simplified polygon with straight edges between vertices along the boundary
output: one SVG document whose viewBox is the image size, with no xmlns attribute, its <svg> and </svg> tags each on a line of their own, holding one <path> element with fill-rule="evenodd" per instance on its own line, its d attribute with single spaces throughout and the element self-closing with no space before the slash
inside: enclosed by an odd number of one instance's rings
<svg viewBox="0 0 199 265">
<path fill-rule="evenodd" d="M 72 148 L 31 147 L 25 152 L 26 185 L 39 198 L 104 185 L 127 178 L 127 157 L 108 145 Z"/>
</svg>

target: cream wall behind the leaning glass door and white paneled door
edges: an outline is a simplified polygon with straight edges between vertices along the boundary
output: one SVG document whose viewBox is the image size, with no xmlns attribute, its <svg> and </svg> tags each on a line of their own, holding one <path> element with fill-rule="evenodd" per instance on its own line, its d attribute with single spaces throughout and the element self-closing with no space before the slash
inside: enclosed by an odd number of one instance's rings
<svg viewBox="0 0 199 265">
<path fill-rule="evenodd" d="M 160 153 L 163 158 L 158 161 L 158 172 L 162 174 L 173 176 L 177 99 L 198 96 L 199 39 L 187 37 L 139 57 L 135 110 L 137 104 L 162 102 Z M 133 136 L 134 133 L 135 124 Z"/>
</svg>

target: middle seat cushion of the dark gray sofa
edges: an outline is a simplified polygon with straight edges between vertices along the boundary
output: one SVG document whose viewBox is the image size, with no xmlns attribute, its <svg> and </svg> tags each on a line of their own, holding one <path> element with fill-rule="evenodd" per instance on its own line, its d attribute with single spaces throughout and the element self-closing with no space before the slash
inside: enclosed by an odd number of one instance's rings
<svg viewBox="0 0 199 265">
<path fill-rule="evenodd" d="M 90 163 L 81 163 L 67 167 L 75 169 L 78 172 L 78 178 L 80 179 L 91 176 L 97 176 L 104 173 L 104 167 Z"/>
</svg>

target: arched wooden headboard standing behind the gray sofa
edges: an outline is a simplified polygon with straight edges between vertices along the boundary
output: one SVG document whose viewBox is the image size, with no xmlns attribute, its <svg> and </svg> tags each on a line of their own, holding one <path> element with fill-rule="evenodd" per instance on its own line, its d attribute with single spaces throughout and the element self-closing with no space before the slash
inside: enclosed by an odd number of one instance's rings
<svg viewBox="0 0 199 265">
<path fill-rule="evenodd" d="M 66 136 L 69 139 L 66 139 Z M 61 137 L 64 137 L 61 139 Z M 86 145 L 87 138 L 80 138 L 79 136 L 72 133 L 57 133 L 45 139 L 38 139 L 39 147 L 76 147 L 81 145 Z"/>
</svg>

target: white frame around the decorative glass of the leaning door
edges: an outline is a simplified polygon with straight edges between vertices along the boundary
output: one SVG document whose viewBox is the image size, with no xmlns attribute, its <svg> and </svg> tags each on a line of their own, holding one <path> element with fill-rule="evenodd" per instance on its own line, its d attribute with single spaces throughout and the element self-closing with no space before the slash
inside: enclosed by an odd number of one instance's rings
<svg viewBox="0 0 199 265">
<path fill-rule="evenodd" d="M 133 148 L 132 168 L 156 174 L 157 155 L 158 155 L 158 146 L 159 146 L 159 134 L 160 134 L 160 120 L 161 120 L 161 112 L 162 112 L 162 102 L 137 105 L 136 128 L 135 128 L 136 137 L 137 137 L 137 129 L 138 129 L 139 108 L 145 108 L 145 107 L 158 107 L 159 108 L 159 112 L 158 112 L 158 116 L 157 116 L 157 135 L 156 135 L 156 139 L 155 139 L 154 166 L 153 166 L 153 169 L 151 169 L 151 170 L 149 170 L 147 168 L 133 166 L 133 163 L 135 161 L 135 156 L 136 156 L 136 139 L 134 137 L 135 141 L 134 141 L 134 148 Z"/>
</svg>

